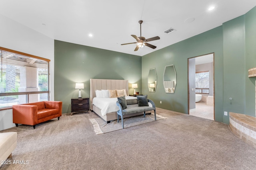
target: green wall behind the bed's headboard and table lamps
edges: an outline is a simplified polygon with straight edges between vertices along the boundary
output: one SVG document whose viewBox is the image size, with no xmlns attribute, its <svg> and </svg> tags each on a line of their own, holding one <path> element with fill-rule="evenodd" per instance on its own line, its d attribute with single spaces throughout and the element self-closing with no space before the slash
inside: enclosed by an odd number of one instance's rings
<svg viewBox="0 0 256 170">
<path fill-rule="evenodd" d="M 54 41 L 54 100 L 62 101 L 62 113 L 71 112 L 71 98 L 77 98 L 75 83 L 84 83 L 82 97 L 90 97 L 90 78 L 129 80 L 142 92 L 141 58 L 136 55 Z"/>
</svg>

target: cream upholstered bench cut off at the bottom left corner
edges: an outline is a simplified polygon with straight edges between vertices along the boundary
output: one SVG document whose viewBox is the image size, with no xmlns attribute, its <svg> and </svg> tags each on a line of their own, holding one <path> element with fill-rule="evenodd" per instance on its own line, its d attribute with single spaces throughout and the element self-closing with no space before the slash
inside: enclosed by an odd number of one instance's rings
<svg viewBox="0 0 256 170">
<path fill-rule="evenodd" d="M 17 147 L 17 132 L 0 133 L 0 161 L 12 157 L 12 151 Z M 0 164 L 1 166 L 1 164 Z"/>
</svg>

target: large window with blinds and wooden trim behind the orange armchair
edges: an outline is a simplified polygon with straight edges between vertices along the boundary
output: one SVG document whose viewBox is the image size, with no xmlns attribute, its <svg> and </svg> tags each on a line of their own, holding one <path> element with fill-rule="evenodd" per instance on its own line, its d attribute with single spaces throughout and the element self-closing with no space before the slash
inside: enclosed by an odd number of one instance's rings
<svg viewBox="0 0 256 170">
<path fill-rule="evenodd" d="M 50 100 L 50 60 L 0 47 L 0 109 Z"/>
</svg>

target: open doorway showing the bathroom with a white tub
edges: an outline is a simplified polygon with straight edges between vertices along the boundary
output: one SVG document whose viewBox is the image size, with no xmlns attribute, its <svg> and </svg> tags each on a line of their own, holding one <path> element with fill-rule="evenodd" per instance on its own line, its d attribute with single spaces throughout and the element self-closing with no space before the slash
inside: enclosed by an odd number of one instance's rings
<svg viewBox="0 0 256 170">
<path fill-rule="evenodd" d="M 188 114 L 214 120 L 214 53 L 188 59 Z"/>
</svg>

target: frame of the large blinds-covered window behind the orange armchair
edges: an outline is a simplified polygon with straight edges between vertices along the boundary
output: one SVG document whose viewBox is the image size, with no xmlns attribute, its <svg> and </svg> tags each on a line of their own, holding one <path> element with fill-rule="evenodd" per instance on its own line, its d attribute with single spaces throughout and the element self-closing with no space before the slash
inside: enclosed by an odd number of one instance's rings
<svg viewBox="0 0 256 170">
<path fill-rule="evenodd" d="M 18 55 L 23 55 L 25 57 L 30 57 L 30 58 L 40 59 L 40 60 L 46 61 L 48 63 L 48 90 L 47 91 L 35 91 L 35 92 L 4 92 L 4 93 L 0 93 L 0 96 L 27 95 L 27 101 L 29 103 L 29 95 L 30 94 L 48 94 L 48 101 L 49 101 L 50 100 L 50 59 L 45 59 L 45 58 L 42 58 L 42 57 L 38 57 L 38 56 L 35 56 L 35 55 L 30 55 L 30 54 L 27 54 L 27 53 L 22 53 L 20 51 L 7 49 L 7 48 L 4 48 L 4 47 L 0 47 L 0 52 L 1 51 L 7 51 L 7 52 L 10 52 L 10 53 L 16 53 Z M 2 56 L 1 56 L 1 59 L 2 59 Z M 1 63 L 2 63 L 2 61 L 1 61 Z M 12 106 L 2 107 L 2 108 L 0 108 L 0 111 L 1 110 L 7 110 L 7 109 L 12 109 Z"/>
</svg>

